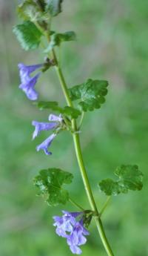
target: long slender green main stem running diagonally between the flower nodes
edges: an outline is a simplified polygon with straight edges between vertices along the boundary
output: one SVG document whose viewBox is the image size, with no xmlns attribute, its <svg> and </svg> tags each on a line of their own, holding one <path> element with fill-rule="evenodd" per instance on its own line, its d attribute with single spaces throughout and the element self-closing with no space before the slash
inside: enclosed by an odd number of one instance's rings
<svg viewBox="0 0 148 256">
<path fill-rule="evenodd" d="M 64 79 L 63 73 L 61 71 L 61 68 L 58 67 L 58 65 L 55 68 L 56 68 L 56 72 L 58 74 L 59 81 L 61 83 L 62 91 L 63 91 L 65 99 L 67 101 L 67 105 L 69 105 L 70 107 L 73 107 L 73 102 L 70 99 L 67 84 L 65 82 L 65 79 Z M 80 171 L 81 171 L 81 177 L 82 177 L 82 180 L 84 182 L 84 188 L 85 188 L 85 191 L 87 193 L 87 197 L 88 197 L 88 200 L 90 202 L 91 209 L 92 209 L 92 211 L 95 211 L 95 214 L 96 214 L 95 215 L 95 223 L 96 223 L 96 226 L 97 226 L 97 229 L 98 229 L 98 233 L 100 234 L 101 241 L 104 245 L 104 248 L 106 249 L 107 255 L 108 256 L 114 256 L 113 252 L 112 252 L 112 249 L 110 247 L 110 244 L 107 240 L 106 234 L 104 232 L 104 227 L 101 223 L 100 215 L 98 213 L 98 209 L 97 209 L 97 206 L 95 204 L 94 197 L 92 195 L 90 182 L 89 182 L 89 179 L 88 179 L 88 176 L 87 176 L 87 171 L 86 171 L 86 168 L 84 166 L 84 160 L 83 160 L 82 153 L 81 153 L 81 145 L 80 145 L 79 134 L 76 133 L 76 131 L 78 131 L 78 129 L 77 129 L 77 123 L 76 123 L 75 119 L 73 119 L 72 126 L 73 126 L 73 131 L 75 131 L 73 133 L 73 140 L 74 140 L 74 145 L 75 145 L 75 154 L 76 154 L 76 157 L 77 157 L 77 160 L 78 160 L 78 165 L 79 165 L 79 168 L 80 168 Z"/>
</svg>

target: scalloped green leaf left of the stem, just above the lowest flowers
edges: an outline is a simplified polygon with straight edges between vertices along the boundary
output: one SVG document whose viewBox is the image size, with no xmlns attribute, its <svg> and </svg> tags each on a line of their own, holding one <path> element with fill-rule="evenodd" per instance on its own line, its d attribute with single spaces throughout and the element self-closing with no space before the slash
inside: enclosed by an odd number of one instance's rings
<svg viewBox="0 0 148 256">
<path fill-rule="evenodd" d="M 49 168 L 39 172 L 34 179 L 34 184 L 39 188 L 39 194 L 44 195 L 50 206 L 57 206 L 69 200 L 69 193 L 63 186 L 72 183 L 72 180 L 73 174 L 58 168 Z"/>
</svg>

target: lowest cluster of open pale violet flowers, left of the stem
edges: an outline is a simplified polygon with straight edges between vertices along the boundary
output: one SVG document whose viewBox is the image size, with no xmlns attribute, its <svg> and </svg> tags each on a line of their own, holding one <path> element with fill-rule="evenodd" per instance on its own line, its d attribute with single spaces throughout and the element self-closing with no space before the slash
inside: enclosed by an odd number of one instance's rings
<svg viewBox="0 0 148 256">
<path fill-rule="evenodd" d="M 78 246 L 81 246 L 87 242 L 87 239 L 84 236 L 89 234 L 87 229 L 84 228 L 84 212 L 62 212 L 64 214 L 63 216 L 53 217 L 55 220 L 53 226 L 56 226 L 55 232 L 60 237 L 67 238 L 67 244 L 70 246 L 70 250 L 73 252 L 73 254 L 80 255 L 81 249 Z M 77 217 L 79 217 L 80 220 L 77 220 Z"/>
</svg>

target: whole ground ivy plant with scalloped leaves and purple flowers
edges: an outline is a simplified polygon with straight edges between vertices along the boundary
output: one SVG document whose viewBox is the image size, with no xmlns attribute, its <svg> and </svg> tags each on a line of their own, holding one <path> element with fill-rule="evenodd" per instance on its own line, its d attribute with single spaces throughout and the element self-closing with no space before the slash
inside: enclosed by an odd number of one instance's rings
<svg viewBox="0 0 148 256">
<path fill-rule="evenodd" d="M 51 27 L 53 19 L 61 13 L 62 4 L 63 0 L 24 0 L 19 4 L 18 13 L 23 22 L 17 24 L 13 28 L 13 32 L 24 50 L 41 48 L 44 53 L 42 63 L 36 65 L 19 63 L 21 79 L 19 88 L 24 91 L 28 99 L 35 102 L 34 105 L 37 108 L 49 110 L 47 122 L 36 120 L 32 122 L 35 127 L 33 140 L 39 136 L 41 131 L 51 131 L 50 136 L 36 146 L 36 151 L 42 150 L 47 157 L 51 157 L 52 153 L 49 148 L 53 140 L 58 140 L 58 134 L 65 130 L 71 134 L 90 209 L 85 209 L 85 206 L 80 206 L 79 202 L 75 202 L 72 199 L 73 196 L 65 188 L 65 184 L 69 185 L 73 182 L 73 174 L 70 172 L 61 170 L 61 168 L 43 169 L 35 177 L 34 184 L 38 188 L 38 194 L 44 196 L 49 206 L 66 205 L 69 201 L 73 203 L 76 209 L 79 209 L 75 212 L 64 210 L 61 216 L 53 217 L 56 234 L 67 240 L 73 254 L 81 254 L 80 246 L 87 242 L 87 235 L 90 234 L 88 229 L 92 219 L 94 219 L 107 255 L 113 256 L 110 243 L 104 232 L 101 215 L 111 196 L 125 194 L 129 190 L 141 190 L 143 174 L 137 165 L 121 165 L 114 172 L 115 179 L 108 178 L 99 181 L 98 189 L 107 195 L 107 201 L 102 209 L 98 209 L 84 165 L 80 129 L 84 113 L 87 114 L 88 111 L 99 109 L 104 104 L 108 82 L 99 79 L 86 79 L 83 83 L 74 85 L 72 88 L 67 87 L 56 51 L 63 42 L 75 40 L 75 32 L 66 31 L 63 33 L 54 31 Z M 66 100 L 64 107 L 61 107 L 55 99 L 52 102 L 42 101 L 36 91 L 35 86 L 39 82 L 39 77 L 51 68 L 57 73 L 61 91 Z"/>
</svg>

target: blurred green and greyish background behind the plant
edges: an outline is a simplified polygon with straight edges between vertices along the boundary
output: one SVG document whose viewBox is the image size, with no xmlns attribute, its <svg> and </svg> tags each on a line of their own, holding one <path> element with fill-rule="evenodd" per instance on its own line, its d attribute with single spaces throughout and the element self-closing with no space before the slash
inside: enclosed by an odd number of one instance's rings
<svg viewBox="0 0 148 256">
<path fill-rule="evenodd" d="M 15 0 L 0 1 L 0 255 L 72 255 L 66 241 L 55 234 L 51 209 L 36 197 L 33 177 L 41 168 L 61 167 L 75 175 L 70 192 L 78 203 L 89 208 L 75 160 L 70 134 L 60 134 L 52 145 L 53 156 L 36 152 L 36 145 L 48 133 L 31 141 L 31 121 L 46 121 L 18 89 L 17 64 L 43 61 L 38 51 L 21 50 L 12 27 L 19 22 Z M 58 31 L 75 30 L 77 42 L 65 43 L 61 63 L 68 84 L 92 79 L 110 82 L 107 102 L 101 110 L 86 114 L 81 129 L 81 145 L 90 182 L 101 207 L 106 197 L 98 191 L 102 178 L 112 177 L 117 165 L 138 164 L 144 172 L 140 192 L 113 197 L 103 222 L 115 256 L 148 255 L 147 234 L 147 144 L 148 144 L 148 1 L 143 0 L 64 0 L 64 12 L 53 22 Z M 64 104 L 54 70 L 41 76 L 37 85 L 40 99 Z M 82 246 L 83 255 L 106 256 L 95 224 Z"/>
</svg>

